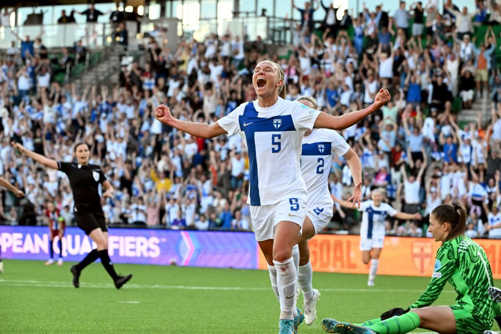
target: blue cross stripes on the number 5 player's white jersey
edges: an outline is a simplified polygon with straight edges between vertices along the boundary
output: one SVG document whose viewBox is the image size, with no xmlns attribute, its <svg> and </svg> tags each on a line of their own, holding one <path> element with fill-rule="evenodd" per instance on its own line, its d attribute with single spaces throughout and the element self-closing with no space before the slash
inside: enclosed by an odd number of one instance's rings
<svg viewBox="0 0 501 334">
<path fill-rule="evenodd" d="M 254 102 L 249 102 L 243 110 L 243 115 L 238 117 L 240 131 L 245 133 L 247 151 L 249 155 L 249 193 L 250 205 L 261 205 L 259 195 L 258 159 L 256 156 L 256 132 L 282 132 L 296 131 L 292 115 L 260 118 L 254 107 Z M 271 141 L 269 143 L 271 145 Z M 270 167 L 273 168 L 273 167 Z"/>
</svg>

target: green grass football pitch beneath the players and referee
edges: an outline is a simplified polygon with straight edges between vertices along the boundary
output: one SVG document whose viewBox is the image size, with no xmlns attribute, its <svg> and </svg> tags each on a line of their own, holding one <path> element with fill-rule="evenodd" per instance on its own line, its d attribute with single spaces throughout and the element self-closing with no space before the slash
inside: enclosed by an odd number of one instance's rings
<svg viewBox="0 0 501 334">
<path fill-rule="evenodd" d="M 133 274 L 117 290 L 101 264 L 94 263 L 76 289 L 71 264 L 4 260 L 0 333 L 278 332 L 279 304 L 268 271 L 116 264 L 118 272 Z M 324 317 L 355 322 L 407 307 L 429 278 L 380 275 L 375 282 L 368 288 L 367 275 L 315 272 L 313 285 L 322 294 L 318 318 L 311 326 L 303 323 L 299 332 L 324 333 Z M 454 298 L 447 286 L 435 304 L 452 304 Z"/>
</svg>

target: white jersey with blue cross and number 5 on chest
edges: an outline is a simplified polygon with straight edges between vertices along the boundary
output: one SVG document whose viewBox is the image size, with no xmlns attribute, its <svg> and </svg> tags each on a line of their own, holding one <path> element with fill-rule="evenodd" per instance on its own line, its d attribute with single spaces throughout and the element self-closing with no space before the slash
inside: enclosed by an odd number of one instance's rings
<svg viewBox="0 0 501 334">
<path fill-rule="evenodd" d="M 247 147 L 248 204 L 271 205 L 289 194 L 307 198 L 301 175 L 301 144 L 320 113 L 279 97 L 269 108 L 261 108 L 258 101 L 243 103 L 217 121 L 228 135 L 239 133 Z"/>
</svg>

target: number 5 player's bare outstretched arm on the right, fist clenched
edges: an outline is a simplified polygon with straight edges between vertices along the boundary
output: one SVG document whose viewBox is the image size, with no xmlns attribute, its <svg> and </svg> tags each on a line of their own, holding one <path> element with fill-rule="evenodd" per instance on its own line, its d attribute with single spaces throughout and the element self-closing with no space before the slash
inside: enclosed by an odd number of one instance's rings
<svg viewBox="0 0 501 334">
<path fill-rule="evenodd" d="M 324 128 L 332 130 L 344 130 L 354 124 L 357 124 L 373 112 L 381 109 L 381 107 L 388 103 L 390 99 L 391 96 L 388 90 L 381 89 L 376 96 L 374 103 L 369 107 L 362 110 L 353 111 L 342 116 L 331 116 L 327 113 L 321 113 L 315 121 L 315 125 L 313 127 L 316 129 Z"/>
</svg>

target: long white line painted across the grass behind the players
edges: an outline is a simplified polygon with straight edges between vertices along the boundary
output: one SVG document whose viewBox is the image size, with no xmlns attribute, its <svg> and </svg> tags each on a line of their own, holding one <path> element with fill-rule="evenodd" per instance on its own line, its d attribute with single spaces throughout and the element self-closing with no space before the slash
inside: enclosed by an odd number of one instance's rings
<svg viewBox="0 0 501 334">
<path fill-rule="evenodd" d="M 55 281 L 38 281 L 38 280 L 15 280 L 15 279 L 0 279 L 0 286 L 40 286 L 40 287 L 73 287 L 70 282 L 55 282 Z M 83 287 L 92 288 L 115 288 L 112 283 L 80 283 Z M 268 291 L 268 287 L 256 286 L 191 286 L 191 285 L 143 285 L 143 284 L 127 284 L 127 288 L 133 289 L 168 289 L 168 290 L 253 290 L 253 291 Z M 322 291 L 328 292 L 393 292 L 393 293 L 422 293 L 422 290 L 405 290 L 405 289 L 371 289 L 371 288 L 319 288 Z M 455 293 L 452 290 L 442 291 L 445 293 Z"/>
</svg>

